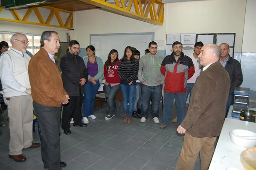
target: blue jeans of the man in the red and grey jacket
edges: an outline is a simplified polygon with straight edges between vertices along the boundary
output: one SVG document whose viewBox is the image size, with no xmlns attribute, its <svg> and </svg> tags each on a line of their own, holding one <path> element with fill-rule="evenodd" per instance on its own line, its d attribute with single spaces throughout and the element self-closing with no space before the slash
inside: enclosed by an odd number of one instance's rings
<svg viewBox="0 0 256 170">
<path fill-rule="evenodd" d="M 173 99 L 177 107 L 178 126 L 185 118 L 186 93 L 164 92 L 163 124 L 169 125 Z"/>
</svg>

